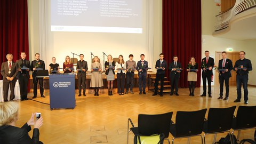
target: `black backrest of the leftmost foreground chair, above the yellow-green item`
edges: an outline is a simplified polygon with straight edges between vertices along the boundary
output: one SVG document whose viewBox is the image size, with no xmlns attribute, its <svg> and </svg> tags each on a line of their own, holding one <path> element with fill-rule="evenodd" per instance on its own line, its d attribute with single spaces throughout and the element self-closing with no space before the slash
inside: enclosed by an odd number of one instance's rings
<svg viewBox="0 0 256 144">
<path fill-rule="evenodd" d="M 157 115 L 139 114 L 139 134 L 152 135 L 164 133 L 165 138 L 169 137 L 172 114 L 173 112 Z"/>
</svg>

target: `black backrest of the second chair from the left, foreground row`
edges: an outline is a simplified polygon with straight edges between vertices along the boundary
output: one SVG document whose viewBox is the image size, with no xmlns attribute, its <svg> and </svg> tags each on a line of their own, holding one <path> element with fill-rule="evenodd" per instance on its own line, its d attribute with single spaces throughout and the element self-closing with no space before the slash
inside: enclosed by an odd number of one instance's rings
<svg viewBox="0 0 256 144">
<path fill-rule="evenodd" d="M 197 111 L 177 111 L 175 120 L 176 137 L 185 137 L 203 132 L 206 108 Z"/>
</svg>

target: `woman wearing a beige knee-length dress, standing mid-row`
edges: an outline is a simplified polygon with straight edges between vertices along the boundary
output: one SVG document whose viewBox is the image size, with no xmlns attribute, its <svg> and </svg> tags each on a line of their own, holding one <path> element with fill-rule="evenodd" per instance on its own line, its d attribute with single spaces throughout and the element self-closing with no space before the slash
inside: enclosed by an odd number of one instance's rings
<svg viewBox="0 0 256 144">
<path fill-rule="evenodd" d="M 103 86 L 103 80 L 101 76 L 102 67 L 98 56 L 95 56 L 93 61 L 94 62 L 91 65 L 92 76 L 90 87 L 94 88 L 94 96 L 99 96 L 100 87 Z"/>
</svg>

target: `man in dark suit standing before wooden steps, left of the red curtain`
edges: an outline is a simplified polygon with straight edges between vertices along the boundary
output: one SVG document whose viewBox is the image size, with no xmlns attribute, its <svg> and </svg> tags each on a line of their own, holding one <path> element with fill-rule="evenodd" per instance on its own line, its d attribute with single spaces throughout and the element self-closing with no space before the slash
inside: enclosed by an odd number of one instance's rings
<svg viewBox="0 0 256 144">
<path fill-rule="evenodd" d="M 163 97 L 163 90 L 164 90 L 164 76 L 165 76 L 165 69 L 167 68 L 167 62 L 164 60 L 164 54 L 159 54 L 159 60 L 156 61 L 156 81 L 155 81 L 155 92 L 154 95 L 157 95 L 158 90 L 158 83 L 159 80 L 161 81 L 161 88 L 160 88 L 160 96 Z"/>
</svg>

